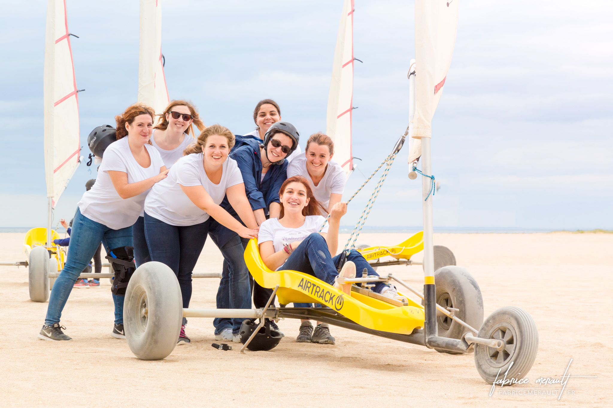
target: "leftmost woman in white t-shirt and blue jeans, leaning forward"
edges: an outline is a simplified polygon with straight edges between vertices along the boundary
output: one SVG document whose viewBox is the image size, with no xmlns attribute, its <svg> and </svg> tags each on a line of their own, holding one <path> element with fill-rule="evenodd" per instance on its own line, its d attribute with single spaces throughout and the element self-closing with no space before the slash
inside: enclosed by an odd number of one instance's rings
<svg viewBox="0 0 613 408">
<path fill-rule="evenodd" d="M 153 109 L 135 104 L 115 117 L 117 140 L 104 150 L 96 184 L 77 204 L 68 259 L 51 290 L 40 339 L 72 339 L 62 332 L 59 319 L 73 284 L 99 243 L 104 243 L 107 253 L 132 246 L 132 224 L 143 209 L 145 197 L 168 172 L 158 151 L 149 144 L 153 116 Z M 123 301 L 123 296 L 113 293 L 115 325 L 111 335 L 115 338 L 125 338 Z"/>
</svg>

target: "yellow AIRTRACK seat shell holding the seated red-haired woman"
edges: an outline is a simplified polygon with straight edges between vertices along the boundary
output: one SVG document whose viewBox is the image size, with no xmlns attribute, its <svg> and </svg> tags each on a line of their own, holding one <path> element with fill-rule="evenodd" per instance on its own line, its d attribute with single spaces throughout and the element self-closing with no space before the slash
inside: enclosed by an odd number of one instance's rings
<svg viewBox="0 0 613 408">
<path fill-rule="evenodd" d="M 410 334 L 424 326 L 423 306 L 409 299 L 408 306 L 394 306 L 373 297 L 351 292 L 351 296 L 308 273 L 268 269 L 262 261 L 257 240 L 245 250 L 245 262 L 251 275 L 262 287 L 279 285 L 279 303 L 321 303 L 348 319 L 373 330 Z"/>
</svg>

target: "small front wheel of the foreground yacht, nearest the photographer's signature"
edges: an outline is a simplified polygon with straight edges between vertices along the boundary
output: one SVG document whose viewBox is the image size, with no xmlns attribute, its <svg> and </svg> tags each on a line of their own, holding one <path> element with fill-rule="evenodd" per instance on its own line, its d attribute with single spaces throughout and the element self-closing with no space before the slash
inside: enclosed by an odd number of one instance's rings
<svg viewBox="0 0 613 408">
<path fill-rule="evenodd" d="M 514 306 L 498 309 L 485 319 L 479 337 L 504 341 L 501 351 L 474 346 L 474 364 L 488 384 L 497 378 L 519 381 L 528 374 L 538 351 L 538 329 L 527 311 Z"/>
</svg>

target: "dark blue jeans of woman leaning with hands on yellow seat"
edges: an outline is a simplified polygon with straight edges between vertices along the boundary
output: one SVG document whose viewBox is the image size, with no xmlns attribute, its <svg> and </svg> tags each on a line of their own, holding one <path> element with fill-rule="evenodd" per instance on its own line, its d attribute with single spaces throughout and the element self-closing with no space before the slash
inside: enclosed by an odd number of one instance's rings
<svg viewBox="0 0 613 408">
<path fill-rule="evenodd" d="M 145 237 L 151 261 L 168 265 L 177 275 L 183 298 L 183 308 L 191 299 L 191 273 L 207 240 L 208 224 L 176 226 L 158 220 L 145 213 Z"/>
</svg>

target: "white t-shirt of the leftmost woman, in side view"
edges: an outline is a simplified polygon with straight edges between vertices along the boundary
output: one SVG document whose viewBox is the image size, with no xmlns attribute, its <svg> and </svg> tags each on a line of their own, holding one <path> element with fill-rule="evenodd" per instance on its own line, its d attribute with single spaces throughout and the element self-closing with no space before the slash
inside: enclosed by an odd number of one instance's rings
<svg viewBox="0 0 613 408">
<path fill-rule="evenodd" d="M 160 169 L 164 167 L 164 161 L 155 147 L 145 144 L 145 149 L 151 158 L 151 165 L 148 168 L 143 168 L 137 163 L 130 151 L 128 136 L 111 143 L 104 150 L 96 183 L 91 190 L 85 191 L 77 204 L 85 217 L 112 229 L 126 228 L 136 222 L 142 213 L 145 197 L 151 189 L 123 199 L 115 190 L 109 171 L 128 173 L 129 184 L 158 175 Z"/>
</svg>

